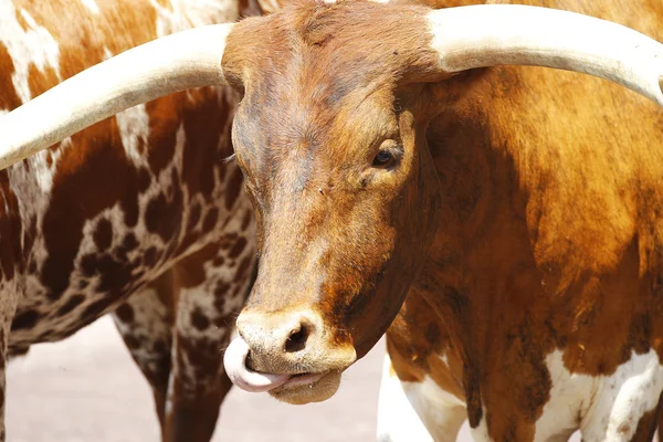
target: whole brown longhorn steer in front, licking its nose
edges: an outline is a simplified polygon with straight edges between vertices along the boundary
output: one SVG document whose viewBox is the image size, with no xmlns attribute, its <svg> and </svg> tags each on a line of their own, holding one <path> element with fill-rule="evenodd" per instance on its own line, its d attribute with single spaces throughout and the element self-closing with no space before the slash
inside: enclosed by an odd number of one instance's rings
<svg viewBox="0 0 663 442">
<path fill-rule="evenodd" d="M 583 10 L 652 35 L 657 11 Z M 490 66 L 587 72 L 663 104 L 662 59 L 638 32 L 550 9 L 303 3 L 84 72 L 0 120 L 0 158 L 230 83 L 261 256 L 225 352 L 235 383 L 324 400 L 396 318 L 390 382 L 436 440 L 465 415 L 477 440 L 642 440 L 663 389 L 661 110 L 607 82 Z M 410 440 L 402 415 L 381 440 Z"/>
</svg>

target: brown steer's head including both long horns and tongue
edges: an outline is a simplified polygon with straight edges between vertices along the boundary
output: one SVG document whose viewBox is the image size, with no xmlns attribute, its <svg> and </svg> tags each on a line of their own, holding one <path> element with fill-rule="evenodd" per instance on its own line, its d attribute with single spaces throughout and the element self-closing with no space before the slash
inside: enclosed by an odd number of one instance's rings
<svg viewBox="0 0 663 442">
<path fill-rule="evenodd" d="M 62 83 L 0 119 L 0 166 L 169 92 L 242 91 L 233 141 L 256 210 L 260 271 L 225 366 L 246 390 L 319 401 L 387 329 L 443 228 L 427 83 L 532 64 L 663 104 L 659 60 L 657 42 L 564 11 L 305 3 L 171 35 Z"/>
</svg>

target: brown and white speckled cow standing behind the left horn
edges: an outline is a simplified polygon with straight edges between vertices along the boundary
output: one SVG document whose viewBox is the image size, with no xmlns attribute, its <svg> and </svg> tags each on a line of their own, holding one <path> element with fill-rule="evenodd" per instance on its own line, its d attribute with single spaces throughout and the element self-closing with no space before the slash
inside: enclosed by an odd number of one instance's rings
<svg viewBox="0 0 663 442">
<path fill-rule="evenodd" d="M 249 12 L 233 0 L 0 0 L 0 112 L 131 46 Z M 0 360 L 126 302 L 116 323 L 164 440 L 211 438 L 230 388 L 222 349 L 255 262 L 252 209 L 228 161 L 236 102 L 229 88 L 173 94 L 0 172 Z"/>
</svg>

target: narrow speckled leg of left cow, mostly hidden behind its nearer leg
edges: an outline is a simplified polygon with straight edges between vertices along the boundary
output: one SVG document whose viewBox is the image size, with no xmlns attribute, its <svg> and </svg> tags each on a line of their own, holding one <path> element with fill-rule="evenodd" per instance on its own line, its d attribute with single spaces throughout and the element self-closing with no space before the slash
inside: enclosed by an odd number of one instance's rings
<svg viewBox="0 0 663 442">
<path fill-rule="evenodd" d="M 113 313 L 119 334 L 152 389 L 161 429 L 170 377 L 173 295 L 172 272 L 166 272 Z"/>
</svg>

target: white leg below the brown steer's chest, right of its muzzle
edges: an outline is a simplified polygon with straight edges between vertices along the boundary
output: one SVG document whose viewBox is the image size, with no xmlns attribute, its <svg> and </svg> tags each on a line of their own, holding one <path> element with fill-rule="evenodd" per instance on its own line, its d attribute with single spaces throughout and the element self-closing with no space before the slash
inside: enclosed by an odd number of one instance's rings
<svg viewBox="0 0 663 442">
<path fill-rule="evenodd" d="M 385 356 L 378 404 L 378 442 L 455 441 L 467 418 L 460 400 L 432 380 L 402 382 Z"/>
</svg>

